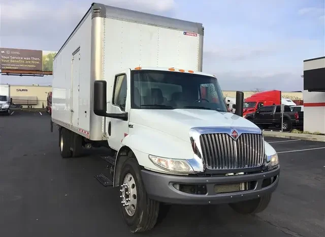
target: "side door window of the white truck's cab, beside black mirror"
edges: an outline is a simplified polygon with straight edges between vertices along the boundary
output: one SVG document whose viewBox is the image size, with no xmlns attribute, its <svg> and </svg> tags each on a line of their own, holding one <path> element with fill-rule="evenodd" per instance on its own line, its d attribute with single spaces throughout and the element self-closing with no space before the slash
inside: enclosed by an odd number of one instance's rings
<svg viewBox="0 0 325 237">
<path fill-rule="evenodd" d="M 119 106 L 122 111 L 125 111 L 126 92 L 126 76 L 124 74 L 116 76 L 114 82 L 114 95 L 112 104 Z"/>
</svg>

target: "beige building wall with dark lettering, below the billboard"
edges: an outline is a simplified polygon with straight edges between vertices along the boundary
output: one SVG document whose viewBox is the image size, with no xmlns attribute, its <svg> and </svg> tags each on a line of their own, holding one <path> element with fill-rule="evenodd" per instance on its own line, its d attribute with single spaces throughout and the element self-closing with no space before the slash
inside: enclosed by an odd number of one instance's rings
<svg viewBox="0 0 325 237">
<path fill-rule="evenodd" d="M 51 86 L 39 85 L 10 85 L 10 96 L 13 103 L 20 104 L 23 108 L 45 108 L 47 94 L 52 91 Z"/>
</svg>

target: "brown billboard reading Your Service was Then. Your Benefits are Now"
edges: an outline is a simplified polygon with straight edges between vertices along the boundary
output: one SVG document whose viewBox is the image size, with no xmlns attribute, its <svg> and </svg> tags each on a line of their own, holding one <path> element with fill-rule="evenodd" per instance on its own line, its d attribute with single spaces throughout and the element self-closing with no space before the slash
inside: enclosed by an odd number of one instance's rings
<svg viewBox="0 0 325 237">
<path fill-rule="evenodd" d="M 52 72 L 57 52 L 0 48 L 0 69 L 5 71 Z"/>
</svg>

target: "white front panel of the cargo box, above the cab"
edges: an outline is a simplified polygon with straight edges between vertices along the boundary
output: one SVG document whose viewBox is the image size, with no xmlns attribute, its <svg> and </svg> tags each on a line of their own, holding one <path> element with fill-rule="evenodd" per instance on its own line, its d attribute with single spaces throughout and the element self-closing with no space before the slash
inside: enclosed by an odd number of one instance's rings
<svg viewBox="0 0 325 237">
<path fill-rule="evenodd" d="M 183 30 L 106 18 L 104 29 L 104 78 L 107 98 L 114 76 L 126 68 L 200 68 L 200 35 Z"/>
</svg>

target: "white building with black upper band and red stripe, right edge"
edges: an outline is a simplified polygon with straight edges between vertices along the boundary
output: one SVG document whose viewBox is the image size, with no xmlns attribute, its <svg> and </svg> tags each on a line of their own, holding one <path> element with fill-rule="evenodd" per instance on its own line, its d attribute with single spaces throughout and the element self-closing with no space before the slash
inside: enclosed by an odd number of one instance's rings
<svg viewBox="0 0 325 237">
<path fill-rule="evenodd" d="M 304 131 L 325 134 L 325 56 L 304 61 Z"/>
</svg>

